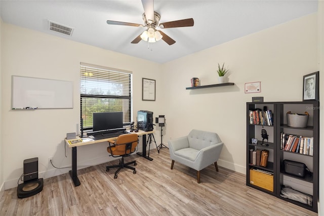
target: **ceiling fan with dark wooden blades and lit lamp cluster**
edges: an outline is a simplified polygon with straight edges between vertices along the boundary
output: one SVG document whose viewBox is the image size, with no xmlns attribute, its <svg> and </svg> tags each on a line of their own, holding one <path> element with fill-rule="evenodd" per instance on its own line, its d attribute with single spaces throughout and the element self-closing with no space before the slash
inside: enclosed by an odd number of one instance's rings
<svg viewBox="0 0 324 216">
<path fill-rule="evenodd" d="M 175 40 L 170 38 L 166 33 L 161 30 L 156 30 L 156 28 L 176 28 L 176 27 L 186 27 L 193 26 L 193 19 L 183 19 L 176 20 L 164 23 L 158 23 L 160 21 L 161 16 L 154 11 L 154 1 L 153 0 L 142 0 L 142 5 L 144 8 L 144 13 L 142 18 L 144 20 L 144 25 L 130 23 L 130 22 L 119 22 L 107 20 L 107 24 L 110 25 L 129 25 L 129 26 L 137 26 L 137 27 L 147 27 L 143 33 L 138 35 L 131 43 L 137 44 L 141 40 L 148 41 L 149 43 L 153 43 L 159 40 L 164 40 L 167 44 L 173 45 L 176 43 Z"/>
</svg>

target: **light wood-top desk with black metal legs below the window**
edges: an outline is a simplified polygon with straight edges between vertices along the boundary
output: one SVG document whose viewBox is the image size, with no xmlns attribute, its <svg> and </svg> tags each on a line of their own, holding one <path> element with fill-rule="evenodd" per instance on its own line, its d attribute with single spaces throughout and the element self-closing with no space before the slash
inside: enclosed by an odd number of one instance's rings
<svg viewBox="0 0 324 216">
<path fill-rule="evenodd" d="M 135 132 L 132 132 L 132 133 L 135 133 Z M 154 133 L 154 131 L 139 130 L 138 132 L 136 132 L 136 134 L 138 136 L 143 136 L 143 140 L 142 140 L 143 150 L 142 150 L 142 153 L 138 152 L 137 154 L 151 161 L 151 160 L 153 160 L 153 158 L 150 158 L 146 155 L 146 134 L 150 134 L 150 133 Z M 99 143 L 99 142 L 111 141 L 116 138 L 117 137 L 110 137 L 110 138 L 106 138 L 106 139 L 82 141 L 82 142 L 77 142 L 77 143 L 73 143 L 73 144 L 70 144 L 68 142 L 68 140 L 65 139 L 66 145 L 69 148 L 72 148 L 72 169 L 69 171 L 69 173 L 71 175 L 71 178 L 72 178 L 72 181 L 73 181 L 75 187 L 79 186 L 81 184 L 79 181 L 79 178 L 77 177 L 77 173 L 76 173 L 76 147 L 95 144 L 95 143 Z M 80 138 L 77 136 L 76 139 L 80 139 Z"/>
</svg>

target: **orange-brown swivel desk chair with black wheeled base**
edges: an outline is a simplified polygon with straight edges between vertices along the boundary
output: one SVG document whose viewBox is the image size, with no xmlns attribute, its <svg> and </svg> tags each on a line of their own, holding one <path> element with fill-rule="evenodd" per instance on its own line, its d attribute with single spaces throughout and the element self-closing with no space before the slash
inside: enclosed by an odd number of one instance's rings
<svg viewBox="0 0 324 216">
<path fill-rule="evenodd" d="M 137 134 L 121 134 L 117 137 L 116 140 L 108 141 L 109 147 L 107 147 L 107 152 L 110 153 L 109 156 L 112 157 L 120 157 L 118 165 L 106 166 L 106 171 L 109 171 L 109 168 L 118 167 L 117 171 L 115 171 L 114 178 L 117 178 L 117 173 L 122 168 L 129 168 L 133 170 L 133 173 L 136 173 L 135 167 L 129 166 L 130 164 L 134 164 L 136 166 L 136 161 L 124 163 L 124 158 L 130 156 L 133 152 L 135 152 L 135 148 L 137 147 L 138 137 Z"/>
</svg>

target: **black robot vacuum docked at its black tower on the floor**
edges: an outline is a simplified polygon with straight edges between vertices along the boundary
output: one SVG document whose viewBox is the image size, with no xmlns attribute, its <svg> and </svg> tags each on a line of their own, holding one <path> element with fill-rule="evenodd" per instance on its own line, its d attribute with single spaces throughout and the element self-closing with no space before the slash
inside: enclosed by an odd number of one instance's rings
<svg viewBox="0 0 324 216">
<path fill-rule="evenodd" d="M 24 160 L 24 183 L 17 186 L 18 198 L 33 196 L 43 190 L 43 178 L 38 178 L 38 158 Z"/>
</svg>

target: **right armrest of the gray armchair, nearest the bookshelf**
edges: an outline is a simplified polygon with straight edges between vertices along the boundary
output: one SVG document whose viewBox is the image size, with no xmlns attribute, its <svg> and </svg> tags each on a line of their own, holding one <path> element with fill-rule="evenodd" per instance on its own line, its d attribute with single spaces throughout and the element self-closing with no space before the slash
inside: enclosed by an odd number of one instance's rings
<svg viewBox="0 0 324 216">
<path fill-rule="evenodd" d="M 223 145 L 223 142 L 219 142 L 215 145 L 201 149 L 195 160 L 195 163 L 199 164 L 198 170 L 204 169 L 205 167 L 218 161 Z"/>
</svg>

